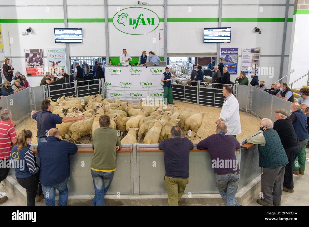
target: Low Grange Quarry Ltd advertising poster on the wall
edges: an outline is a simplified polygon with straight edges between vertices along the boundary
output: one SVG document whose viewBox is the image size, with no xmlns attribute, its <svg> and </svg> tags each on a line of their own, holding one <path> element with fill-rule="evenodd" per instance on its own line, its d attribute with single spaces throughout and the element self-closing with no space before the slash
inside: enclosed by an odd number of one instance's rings
<svg viewBox="0 0 309 227">
<path fill-rule="evenodd" d="M 251 75 L 259 74 L 260 47 L 248 47 L 242 49 L 241 72 Z"/>
</svg>

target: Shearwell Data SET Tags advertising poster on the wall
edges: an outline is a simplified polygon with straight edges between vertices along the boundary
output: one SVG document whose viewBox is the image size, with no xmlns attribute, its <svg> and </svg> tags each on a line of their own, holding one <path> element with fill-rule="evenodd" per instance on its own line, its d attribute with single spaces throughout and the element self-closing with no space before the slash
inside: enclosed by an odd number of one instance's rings
<svg viewBox="0 0 309 227">
<path fill-rule="evenodd" d="M 47 62 L 49 72 L 59 75 L 61 69 L 66 73 L 66 49 L 65 48 L 48 48 Z"/>
</svg>

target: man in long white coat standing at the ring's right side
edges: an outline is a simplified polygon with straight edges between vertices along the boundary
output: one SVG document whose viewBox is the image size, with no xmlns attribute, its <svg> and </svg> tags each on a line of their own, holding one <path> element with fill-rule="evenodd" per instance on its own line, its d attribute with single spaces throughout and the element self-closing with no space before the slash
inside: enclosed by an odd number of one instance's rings
<svg viewBox="0 0 309 227">
<path fill-rule="evenodd" d="M 216 123 L 224 123 L 227 127 L 227 135 L 232 135 L 236 138 L 236 135 L 241 133 L 240 128 L 240 116 L 239 116 L 239 103 L 235 96 L 232 94 L 232 87 L 224 85 L 222 93 L 226 98 L 224 100 L 220 119 Z"/>
</svg>

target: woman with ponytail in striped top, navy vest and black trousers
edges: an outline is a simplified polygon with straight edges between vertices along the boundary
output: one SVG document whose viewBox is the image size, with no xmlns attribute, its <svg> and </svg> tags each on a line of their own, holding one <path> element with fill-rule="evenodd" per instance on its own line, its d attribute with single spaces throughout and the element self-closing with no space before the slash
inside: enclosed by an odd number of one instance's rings
<svg viewBox="0 0 309 227">
<path fill-rule="evenodd" d="M 23 130 L 18 135 L 17 145 L 10 155 L 11 167 L 15 168 L 17 182 L 26 189 L 27 206 L 35 206 L 36 192 L 39 185 L 39 167 L 36 158 L 30 150 L 32 132 Z"/>
</svg>

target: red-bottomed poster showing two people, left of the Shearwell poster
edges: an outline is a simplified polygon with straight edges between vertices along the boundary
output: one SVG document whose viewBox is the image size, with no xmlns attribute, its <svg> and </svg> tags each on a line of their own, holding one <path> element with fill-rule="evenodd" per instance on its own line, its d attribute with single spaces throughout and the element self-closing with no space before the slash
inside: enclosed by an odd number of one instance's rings
<svg viewBox="0 0 309 227">
<path fill-rule="evenodd" d="M 44 76 L 43 49 L 25 49 L 27 76 Z"/>
</svg>

